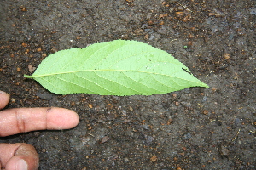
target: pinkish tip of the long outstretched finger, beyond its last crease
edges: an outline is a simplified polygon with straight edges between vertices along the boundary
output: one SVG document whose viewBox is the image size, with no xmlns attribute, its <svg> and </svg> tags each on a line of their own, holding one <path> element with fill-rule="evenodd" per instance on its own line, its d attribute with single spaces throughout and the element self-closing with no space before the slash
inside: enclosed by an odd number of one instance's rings
<svg viewBox="0 0 256 170">
<path fill-rule="evenodd" d="M 47 129 L 69 129 L 79 124 L 79 115 L 64 108 L 50 108 L 47 114 Z"/>
</svg>

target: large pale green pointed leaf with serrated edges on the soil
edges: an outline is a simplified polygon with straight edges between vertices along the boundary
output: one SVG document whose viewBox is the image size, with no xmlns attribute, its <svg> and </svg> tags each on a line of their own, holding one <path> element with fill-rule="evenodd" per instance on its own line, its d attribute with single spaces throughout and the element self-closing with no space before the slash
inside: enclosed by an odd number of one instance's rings
<svg viewBox="0 0 256 170">
<path fill-rule="evenodd" d="M 55 94 L 151 95 L 209 88 L 165 51 L 125 40 L 50 54 L 32 76 L 25 77 Z"/>
</svg>

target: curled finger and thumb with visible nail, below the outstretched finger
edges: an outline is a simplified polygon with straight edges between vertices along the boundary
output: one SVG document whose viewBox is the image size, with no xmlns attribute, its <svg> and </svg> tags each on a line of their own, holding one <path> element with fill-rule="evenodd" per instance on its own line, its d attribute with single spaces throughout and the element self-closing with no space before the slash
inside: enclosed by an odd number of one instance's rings
<svg viewBox="0 0 256 170">
<path fill-rule="evenodd" d="M 32 145 L 25 143 L 0 144 L 0 150 L 0 167 L 5 170 L 38 169 L 39 157 Z"/>
</svg>

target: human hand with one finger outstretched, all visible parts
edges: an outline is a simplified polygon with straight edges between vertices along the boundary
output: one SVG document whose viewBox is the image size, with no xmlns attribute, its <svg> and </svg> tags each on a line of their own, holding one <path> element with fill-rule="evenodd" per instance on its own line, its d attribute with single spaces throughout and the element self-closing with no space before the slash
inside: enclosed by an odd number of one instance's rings
<svg viewBox="0 0 256 170">
<path fill-rule="evenodd" d="M 0 110 L 9 102 L 9 94 L 0 91 Z M 62 108 L 20 108 L 0 111 L 0 137 L 33 130 L 61 130 L 77 126 L 79 116 Z M 37 151 L 30 144 L 0 144 L 0 169 L 38 169 Z"/>
</svg>

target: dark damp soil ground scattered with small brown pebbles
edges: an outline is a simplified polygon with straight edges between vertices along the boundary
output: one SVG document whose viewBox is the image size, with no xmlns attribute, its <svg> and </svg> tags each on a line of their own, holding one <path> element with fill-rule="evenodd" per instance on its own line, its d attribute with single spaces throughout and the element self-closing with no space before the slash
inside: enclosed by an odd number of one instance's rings
<svg viewBox="0 0 256 170">
<path fill-rule="evenodd" d="M 58 106 L 80 117 L 71 130 L 0 139 L 34 145 L 39 169 L 256 168 L 255 0 L 1 0 L 0 8 L 7 108 Z M 115 39 L 165 50 L 211 88 L 57 95 L 23 77 L 55 51 Z"/>
</svg>

